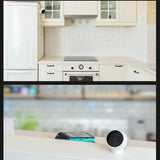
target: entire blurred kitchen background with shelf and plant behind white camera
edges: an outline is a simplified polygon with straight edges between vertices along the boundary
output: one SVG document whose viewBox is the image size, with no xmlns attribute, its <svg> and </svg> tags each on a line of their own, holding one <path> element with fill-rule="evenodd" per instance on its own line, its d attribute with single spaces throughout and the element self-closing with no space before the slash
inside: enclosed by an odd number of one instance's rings
<svg viewBox="0 0 160 160">
<path fill-rule="evenodd" d="M 105 136 L 120 129 L 132 139 L 156 141 L 156 87 L 5 85 L 4 117 L 21 130 Z"/>
</svg>

